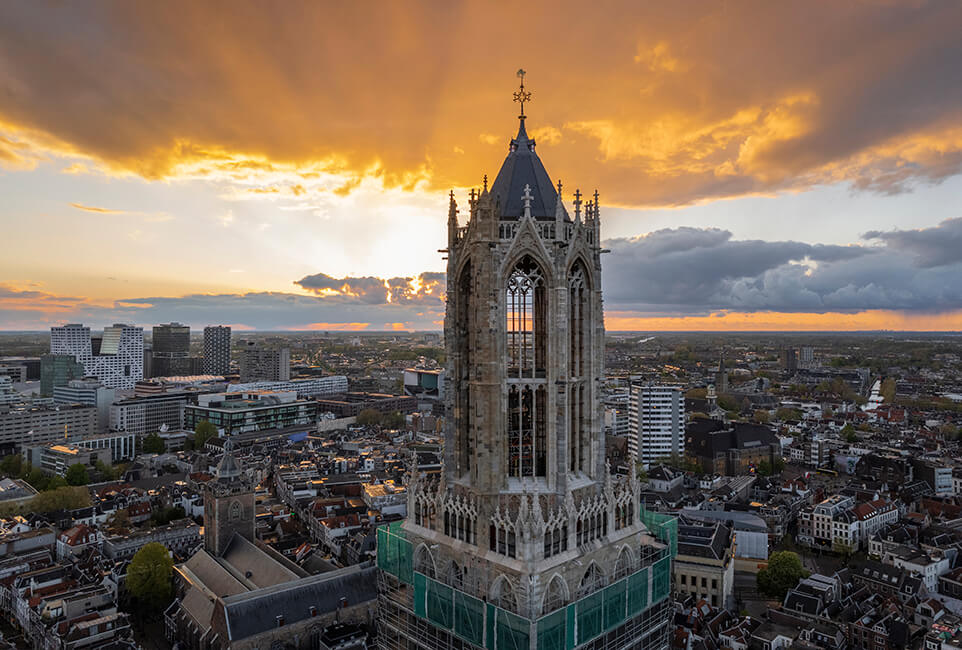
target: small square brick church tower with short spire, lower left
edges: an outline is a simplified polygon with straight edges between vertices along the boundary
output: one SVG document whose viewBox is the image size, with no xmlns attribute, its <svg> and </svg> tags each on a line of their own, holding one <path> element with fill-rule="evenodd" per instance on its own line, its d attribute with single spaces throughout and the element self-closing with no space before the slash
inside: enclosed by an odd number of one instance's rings
<svg viewBox="0 0 962 650">
<path fill-rule="evenodd" d="M 222 555 L 234 533 L 254 541 L 254 487 L 228 440 L 214 478 L 205 487 L 204 548 L 212 555 Z"/>
</svg>

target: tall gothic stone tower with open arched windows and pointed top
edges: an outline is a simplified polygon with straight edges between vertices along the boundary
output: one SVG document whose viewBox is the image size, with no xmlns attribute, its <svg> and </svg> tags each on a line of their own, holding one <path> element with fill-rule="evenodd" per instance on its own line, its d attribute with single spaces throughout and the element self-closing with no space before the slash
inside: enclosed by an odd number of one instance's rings
<svg viewBox="0 0 962 650">
<path fill-rule="evenodd" d="M 634 574 L 663 546 L 639 520 L 634 475 L 613 477 L 605 462 L 598 194 L 583 204 L 575 192 L 572 217 L 523 110 L 520 119 L 463 225 L 451 194 L 444 467 L 437 479 L 412 468 L 400 534 L 414 572 L 535 621 Z M 428 643 L 398 599 L 381 602 L 384 648 L 473 647 L 434 628 Z M 578 646 L 662 647 L 649 623 L 621 645 Z M 536 636 L 524 637 L 531 648 Z"/>
</svg>

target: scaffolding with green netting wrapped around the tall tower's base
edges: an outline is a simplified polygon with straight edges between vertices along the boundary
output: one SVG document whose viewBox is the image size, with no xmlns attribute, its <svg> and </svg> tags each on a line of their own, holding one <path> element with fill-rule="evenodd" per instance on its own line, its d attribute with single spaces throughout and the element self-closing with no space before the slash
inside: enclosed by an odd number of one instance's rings
<svg viewBox="0 0 962 650">
<path fill-rule="evenodd" d="M 610 650 L 667 647 L 671 561 L 677 550 L 678 523 L 667 515 L 646 513 L 649 529 L 665 548 L 649 550 L 646 565 L 604 589 L 584 596 L 537 620 L 413 570 L 412 544 L 399 524 L 377 531 L 381 569 L 380 616 L 393 628 L 395 642 L 382 630 L 382 646 L 438 650 Z M 645 521 L 648 524 L 648 520 Z M 403 636 L 403 640 L 402 640 Z M 642 639 L 647 639 L 641 643 Z"/>
</svg>

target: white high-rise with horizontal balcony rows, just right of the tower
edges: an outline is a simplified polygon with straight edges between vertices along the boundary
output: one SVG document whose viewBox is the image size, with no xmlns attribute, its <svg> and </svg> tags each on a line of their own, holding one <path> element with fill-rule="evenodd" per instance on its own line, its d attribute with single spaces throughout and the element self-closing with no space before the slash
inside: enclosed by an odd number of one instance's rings
<svg viewBox="0 0 962 650">
<path fill-rule="evenodd" d="M 685 396 L 678 386 L 631 387 L 628 450 L 647 468 L 685 453 Z"/>
</svg>

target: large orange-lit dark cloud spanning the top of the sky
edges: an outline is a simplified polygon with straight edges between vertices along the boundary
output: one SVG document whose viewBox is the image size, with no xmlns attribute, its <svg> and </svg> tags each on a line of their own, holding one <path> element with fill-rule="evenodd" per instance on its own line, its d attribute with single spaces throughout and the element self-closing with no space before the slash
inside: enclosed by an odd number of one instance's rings
<svg viewBox="0 0 962 650">
<path fill-rule="evenodd" d="M 523 63 L 553 173 L 612 204 L 832 182 L 896 192 L 962 165 L 954 0 L 533 0 L 525 13 L 538 29 L 487 47 L 479 35 L 503 33 L 516 7 L 6 3 L 0 162 L 30 164 L 35 144 L 147 178 L 293 165 L 343 174 L 344 192 L 372 169 L 463 187 L 503 155 Z"/>
</svg>

